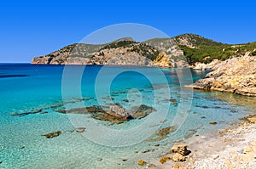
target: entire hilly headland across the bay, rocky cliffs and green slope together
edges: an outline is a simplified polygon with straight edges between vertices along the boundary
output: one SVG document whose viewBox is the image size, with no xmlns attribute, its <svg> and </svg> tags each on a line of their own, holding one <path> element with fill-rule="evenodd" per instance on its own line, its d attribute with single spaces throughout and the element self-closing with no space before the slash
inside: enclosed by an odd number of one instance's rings
<svg viewBox="0 0 256 169">
<path fill-rule="evenodd" d="M 135 42 L 131 37 L 106 44 L 76 43 L 32 59 L 32 64 L 51 65 L 149 65 L 187 67 L 197 62 L 255 54 L 256 42 L 230 45 L 195 34 Z"/>
</svg>

